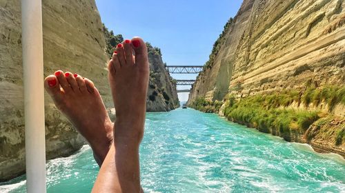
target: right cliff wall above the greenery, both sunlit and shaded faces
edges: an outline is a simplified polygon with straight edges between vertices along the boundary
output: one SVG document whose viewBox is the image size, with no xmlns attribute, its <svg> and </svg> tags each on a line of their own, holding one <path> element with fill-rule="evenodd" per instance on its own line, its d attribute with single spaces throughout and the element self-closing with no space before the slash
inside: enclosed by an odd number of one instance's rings
<svg viewBox="0 0 345 193">
<path fill-rule="evenodd" d="M 344 8 L 341 0 L 245 0 L 190 101 L 300 88 L 308 79 L 344 83 Z"/>
</svg>

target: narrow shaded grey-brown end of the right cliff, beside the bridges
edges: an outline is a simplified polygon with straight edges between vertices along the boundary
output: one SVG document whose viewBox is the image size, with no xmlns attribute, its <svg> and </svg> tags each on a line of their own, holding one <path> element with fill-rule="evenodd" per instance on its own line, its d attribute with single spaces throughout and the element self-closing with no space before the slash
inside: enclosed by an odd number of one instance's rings
<svg viewBox="0 0 345 193">
<path fill-rule="evenodd" d="M 248 28 L 254 1 L 245 0 L 242 3 L 242 7 L 224 34 L 224 43 L 215 56 L 215 60 L 211 63 L 211 68 L 206 68 L 204 72 L 201 72 L 193 85 L 188 103 L 194 101 L 198 96 L 220 101 L 228 93 L 230 80 L 233 76 L 235 52 L 240 39 Z"/>
</svg>

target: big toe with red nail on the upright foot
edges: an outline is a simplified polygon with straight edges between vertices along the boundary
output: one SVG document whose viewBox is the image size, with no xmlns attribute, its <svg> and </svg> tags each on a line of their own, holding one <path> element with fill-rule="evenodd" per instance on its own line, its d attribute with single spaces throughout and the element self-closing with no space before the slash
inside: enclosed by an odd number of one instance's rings
<svg viewBox="0 0 345 193">
<path fill-rule="evenodd" d="M 131 42 L 135 52 L 135 65 L 142 69 L 148 69 L 148 48 L 146 48 L 146 43 L 139 37 L 134 37 Z"/>
</svg>

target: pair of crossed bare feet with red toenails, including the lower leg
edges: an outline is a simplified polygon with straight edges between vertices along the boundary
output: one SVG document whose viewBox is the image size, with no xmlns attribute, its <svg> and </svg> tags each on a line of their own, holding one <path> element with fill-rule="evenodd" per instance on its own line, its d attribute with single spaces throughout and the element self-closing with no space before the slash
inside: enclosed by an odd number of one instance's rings
<svg viewBox="0 0 345 193">
<path fill-rule="evenodd" d="M 58 70 L 46 77 L 45 88 L 88 141 L 101 167 L 92 191 L 140 192 L 139 144 L 144 136 L 149 74 L 144 41 L 135 37 L 117 45 L 108 70 L 115 123 L 89 79 Z"/>
</svg>

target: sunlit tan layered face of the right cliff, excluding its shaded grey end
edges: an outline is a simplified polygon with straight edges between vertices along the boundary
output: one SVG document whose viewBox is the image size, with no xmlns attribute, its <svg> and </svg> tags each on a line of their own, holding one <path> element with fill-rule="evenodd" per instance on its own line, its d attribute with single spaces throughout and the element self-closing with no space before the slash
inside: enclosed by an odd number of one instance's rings
<svg viewBox="0 0 345 193">
<path fill-rule="evenodd" d="M 229 89 L 255 94 L 298 89 L 308 80 L 343 84 L 344 8 L 339 0 L 255 1 Z"/>
</svg>

